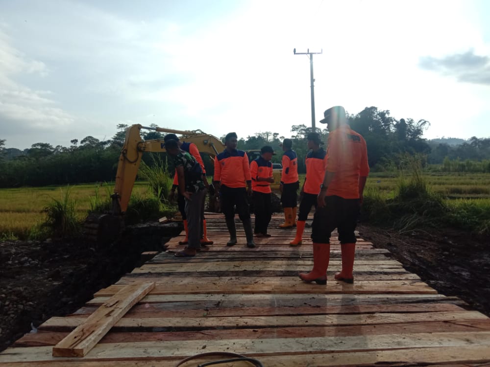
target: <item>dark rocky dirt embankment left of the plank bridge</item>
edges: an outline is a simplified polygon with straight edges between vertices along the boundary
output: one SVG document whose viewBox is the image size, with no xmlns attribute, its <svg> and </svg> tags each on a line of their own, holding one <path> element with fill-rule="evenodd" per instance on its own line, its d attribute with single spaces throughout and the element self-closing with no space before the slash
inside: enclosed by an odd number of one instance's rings
<svg viewBox="0 0 490 367">
<path fill-rule="evenodd" d="M 127 229 L 123 241 L 0 243 L 0 351 L 52 316 L 80 308 L 101 288 L 139 266 L 141 252 L 164 249 L 180 232 L 148 224 Z"/>
</svg>

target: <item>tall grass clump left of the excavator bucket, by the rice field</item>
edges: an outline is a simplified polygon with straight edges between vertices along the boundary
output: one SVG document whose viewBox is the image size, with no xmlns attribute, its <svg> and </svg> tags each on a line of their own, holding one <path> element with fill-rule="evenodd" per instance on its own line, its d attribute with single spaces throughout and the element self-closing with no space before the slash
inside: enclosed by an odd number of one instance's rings
<svg viewBox="0 0 490 367">
<path fill-rule="evenodd" d="M 45 206 L 46 220 L 34 230 L 37 235 L 52 235 L 55 238 L 73 237 L 80 232 L 80 222 L 76 218 L 76 201 L 70 197 L 70 187 L 65 192 L 60 188 L 60 200 L 52 198 Z M 33 235 L 36 236 L 36 235 Z"/>
</svg>

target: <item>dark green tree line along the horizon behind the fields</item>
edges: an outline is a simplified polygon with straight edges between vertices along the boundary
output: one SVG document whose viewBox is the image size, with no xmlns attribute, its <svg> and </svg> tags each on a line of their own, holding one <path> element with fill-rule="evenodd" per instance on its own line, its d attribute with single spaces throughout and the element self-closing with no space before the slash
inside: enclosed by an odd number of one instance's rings
<svg viewBox="0 0 490 367">
<path fill-rule="evenodd" d="M 402 160 L 403 155 L 421 155 L 426 163 L 441 164 L 441 169 L 474 170 L 490 172 L 490 138 L 473 137 L 454 145 L 454 140 L 423 138 L 423 132 L 430 126 L 427 120 L 412 118 L 395 119 L 388 110 L 367 107 L 356 115 L 348 115 L 351 128 L 364 136 L 368 145 L 369 165 L 374 171 L 392 170 Z M 115 135 L 100 141 L 92 136 L 81 140 L 73 139 L 70 146 L 52 146 L 39 142 L 25 150 L 5 148 L 5 139 L 0 139 L 0 187 L 45 186 L 114 181 L 118 158 L 123 146 L 125 130 L 128 126 L 117 125 Z M 317 127 L 322 141 L 328 138 L 326 129 Z M 312 131 L 304 124 L 291 127 L 293 149 L 298 155 L 298 171 L 305 172 L 304 158 L 308 153 L 306 137 Z M 142 138 L 159 139 L 163 134 L 142 131 Z M 240 138 L 238 148 L 242 150 L 260 149 L 270 145 L 276 152 L 273 162 L 280 162 L 280 143 L 285 137 L 274 132 L 260 132 Z M 325 147 L 325 145 L 324 145 Z M 165 159 L 165 154 L 163 154 Z M 154 160 L 149 153 L 143 155 L 147 164 Z M 207 160 L 207 171 L 212 174 L 213 166 Z M 470 164 L 469 161 L 479 161 Z M 453 162 L 453 163 L 451 163 Z M 454 163 L 459 162 L 459 163 Z"/>
</svg>

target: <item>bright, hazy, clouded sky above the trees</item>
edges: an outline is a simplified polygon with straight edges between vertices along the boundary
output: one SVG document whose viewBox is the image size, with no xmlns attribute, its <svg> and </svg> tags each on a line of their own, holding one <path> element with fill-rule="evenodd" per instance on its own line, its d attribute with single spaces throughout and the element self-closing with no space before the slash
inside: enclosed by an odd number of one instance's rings
<svg viewBox="0 0 490 367">
<path fill-rule="evenodd" d="M 0 139 L 111 138 L 119 123 L 218 137 L 343 105 L 490 137 L 490 1 L 0 0 Z"/>
</svg>

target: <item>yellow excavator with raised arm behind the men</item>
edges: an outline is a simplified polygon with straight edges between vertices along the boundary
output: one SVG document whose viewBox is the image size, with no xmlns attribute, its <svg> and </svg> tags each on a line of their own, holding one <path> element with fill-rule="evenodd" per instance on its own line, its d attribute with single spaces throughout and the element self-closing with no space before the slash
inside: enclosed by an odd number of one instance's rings
<svg viewBox="0 0 490 367">
<path fill-rule="evenodd" d="M 211 161 L 214 161 L 214 158 L 225 149 L 219 138 L 206 134 L 201 130 L 181 131 L 161 127 L 147 127 L 140 124 L 130 126 L 126 130 L 123 149 L 119 157 L 116 184 L 114 193 L 111 195 L 111 212 L 109 214 L 91 214 L 88 216 L 85 221 L 85 232 L 90 239 L 98 242 L 107 242 L 121 233 L 124 226 L 123 214 L 129 204 L 143 153 L 166 151 L 163 138 L 143 140 L 140 134 L 141 129 L 178 134 L 181 136 L 180 139 L 182 141 L 196 144 L 199 152 L 206 153 Z M 247 155 L 249 160 L 252 161 L 260 155 L 260 150 L 247 151 Z M 271 188 L 274 191 L 279 190 L 281 171 L 281 169 L 273 170 L 274 183 L 271 184 Z M 210 203 L 213 202 L 216 202 L 215 198 L 210 198 Z M 213 208 L 214 206 L 210 205 L 210 210 L 213 210 Z"/>
</svg>

